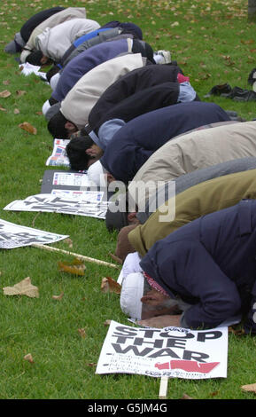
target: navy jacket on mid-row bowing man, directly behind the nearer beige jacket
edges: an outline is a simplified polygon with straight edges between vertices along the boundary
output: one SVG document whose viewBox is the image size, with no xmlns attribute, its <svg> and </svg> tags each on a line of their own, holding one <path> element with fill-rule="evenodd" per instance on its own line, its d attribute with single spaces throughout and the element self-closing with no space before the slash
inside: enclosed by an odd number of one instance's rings
<svg viewBox="0 0 256 417">
<path fill-rule="evenodd" d="M 120 128 L 100 161 L 115 179 L 128 184 L 151 154 L 168 140 L 204 124 L 228 120 L 228 114 L 215 103 L 190 101 L 159 108 Z"/>
</svg>

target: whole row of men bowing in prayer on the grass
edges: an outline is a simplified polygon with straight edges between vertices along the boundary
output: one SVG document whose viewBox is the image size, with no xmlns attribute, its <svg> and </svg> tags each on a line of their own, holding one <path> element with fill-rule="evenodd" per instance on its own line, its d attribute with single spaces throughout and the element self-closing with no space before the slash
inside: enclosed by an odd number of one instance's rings
<svg viewBox="0 0 256 417">
<path fill-rule="evenodd" d="M 9 53 L 52 64 L 43 115 L 70 138 L 71 169 L 121 181 L 120 306 L 144 326 L 216 327 L 240 314 L 256 333 L 256 122 L 200 100 L 170 51 L 133 22 L 100 25 L 54 7 L 20 28 Z"/>
</svg>

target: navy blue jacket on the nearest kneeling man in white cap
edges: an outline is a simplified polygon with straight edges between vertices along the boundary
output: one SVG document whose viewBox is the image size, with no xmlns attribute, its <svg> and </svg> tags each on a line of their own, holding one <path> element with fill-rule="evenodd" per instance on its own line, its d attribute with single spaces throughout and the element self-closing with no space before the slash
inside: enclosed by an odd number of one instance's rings
<svg viewBox="0 0 256 417">
<path fill-rule="evenodd" d="M 191 306 L 187 327 L 216 327 L 246 313 L 256 334 L 256 201 L 199 217 L 157 241 L 141 267 L 171 297 Z"/>
</svg>

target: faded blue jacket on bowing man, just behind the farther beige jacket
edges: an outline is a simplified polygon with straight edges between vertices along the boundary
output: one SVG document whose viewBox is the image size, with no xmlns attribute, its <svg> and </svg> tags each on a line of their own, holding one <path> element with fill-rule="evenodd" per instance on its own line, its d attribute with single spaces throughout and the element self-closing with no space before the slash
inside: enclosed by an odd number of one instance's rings
<svg viewBox="0 0 256 417">
<path fill-rule="evenodd" d="M 128 52 L 127 39 L 119 41 L 98 43 L 88 50 L 81 52 L 66 65 L 61 72 L 56 89 L 51 97 L 61 101 L 66 97 L 69 90 L 80 80 L 82 75 L 88 73 L 94 67 L 103 62 L 117 57 L 120 53 Z"/>
</svg>

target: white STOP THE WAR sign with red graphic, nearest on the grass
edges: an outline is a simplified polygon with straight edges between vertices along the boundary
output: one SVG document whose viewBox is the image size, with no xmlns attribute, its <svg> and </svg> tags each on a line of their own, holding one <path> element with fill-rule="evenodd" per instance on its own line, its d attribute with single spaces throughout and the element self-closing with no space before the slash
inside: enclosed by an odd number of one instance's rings
<svg viewBox="0 0 256 417">
<path fill-rule="evenodd" d="M 228 327 L 128 327 L 112 321 L 96 374 L 208 379 L 227 377 Z"/>
</svg>

